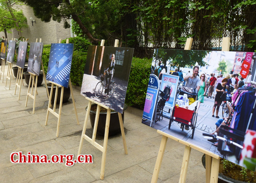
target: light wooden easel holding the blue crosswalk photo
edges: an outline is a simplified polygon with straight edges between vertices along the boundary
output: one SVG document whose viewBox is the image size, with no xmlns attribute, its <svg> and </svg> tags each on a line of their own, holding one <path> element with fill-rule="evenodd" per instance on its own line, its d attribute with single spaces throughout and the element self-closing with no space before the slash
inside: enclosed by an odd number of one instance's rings
<svg viewBox="0 0 256 183">
<path fill-rule="evenodd" d="M 59 43 L 61 43 L 61 39 L 59 40 Z M 67 39 L 67 42 L 69 43 L 69 40 Z M 47 122 L 48 122 L 48 117 L 49 117 L 49 112 L 51 112 L 53 115 L 55 115 L 58 118 L 58 124 L 57 124 L 57 132 L 56 132 L 56 137 L 58 137 L 58 133 L 59 133 L 59 128 L 60 128 L 60 122 L 61 122 L 61 108 L 62 108 L 62 100 L 63 100 L 63 93 L 64 93 L 64 86 L 61 86 L 57 83 L 54 83 L 52 81 L 49 81 L 50 83 L 52 83 L 52 87 L 51 87 L 51 92 L 50 92 L 50 96 L 49 96 L 49 104 L 48 104 L 48 109 L 47 109 L 47 114 L 46 114 L 46 121 L 45 121 L 45 126 L 47 126 Z M 55 89 L 55 98 L 54 98 L 54 105 L 53 105 L 53 109 L 50 108 L 51 106 L 51 100 L 52 100 L 52 92 L 53 92 L 53 86 L 56 86 Z M 70 86 L 70 93 L 71 93 L 71 97 L 72 97 L 72 101 L 73 101 L 73 105 L 74 105 L 74 109 L 75 109 L 75 113 L 76 113 L 76 120 L 77 120 L 77 124 L 79 125 L 79 120 L 78 120 L 78 116 L 77 116 L 77 112 L 76 112 L 76 104 L 75 104 L 75 99 L 74 99 L 74 95 L 73 95 L 73 89 L 72 89 L 72 84 L 71 84 L 71 79 L 69 79 L 69 86 Z M 60 97 L 60 106 L 59 106 L 59 113 L 55 112 L 56 110 L 56 103 L 57 103 L 57 96 L 58 96 L 58 87 L 61 87 L 61 97 Z"/>
</svg>

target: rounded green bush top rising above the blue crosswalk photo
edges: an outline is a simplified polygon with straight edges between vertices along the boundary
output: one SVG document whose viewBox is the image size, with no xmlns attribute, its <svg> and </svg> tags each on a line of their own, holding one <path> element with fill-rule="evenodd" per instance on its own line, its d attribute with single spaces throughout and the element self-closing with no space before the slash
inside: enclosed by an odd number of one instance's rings
<svg viewBox="0 0 256 183">
<path fill-rule="evenodd" d="M 69 39 L 69 43 L 74 44 L 74 51 L 78 50 L 78 51 L 83 51 L 87 53 L 88 46 L 91 45 L 91 43 L 83 37 L 70 37 L 68 39 Z M 67 42 L 67 39 L 61 41 L 61 43 L 66 43 L 66 42 Z"/>
</svg>

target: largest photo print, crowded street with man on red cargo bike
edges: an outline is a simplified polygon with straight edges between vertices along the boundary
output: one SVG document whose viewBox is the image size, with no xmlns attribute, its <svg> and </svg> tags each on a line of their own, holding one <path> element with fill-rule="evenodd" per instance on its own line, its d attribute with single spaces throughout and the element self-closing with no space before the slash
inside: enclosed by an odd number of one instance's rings
<svg viewBox="0 0 256 183">
<path fill-rule="evenodd" d="M 253 52 L 155 49 L 142 123 L 255 171 L 255 60 Z"/>
</svg>

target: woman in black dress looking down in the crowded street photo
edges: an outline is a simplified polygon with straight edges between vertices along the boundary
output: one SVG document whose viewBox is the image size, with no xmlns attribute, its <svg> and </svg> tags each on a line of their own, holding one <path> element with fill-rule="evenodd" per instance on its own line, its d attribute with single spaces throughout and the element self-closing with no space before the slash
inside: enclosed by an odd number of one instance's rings
<svg viewBox="0 0 256 183">
<path fill-rule="evenodd" d="M 221 95 L 225 92 L 226 89 L 226 84 L 227 84 L 227 78 L 224 78 L 221 83 L 218 83 L 217 87 L 216 87 L 216 95 L 215 95 L 215 100 L 214 100 L 214 106 L 212 108 L 212 117 L 214 117 L 214 112 L 216 109 L 216 118 L 219 118 L 218 116 L 218 111 L 220 109 L 221 103 L 222 103 L 222 99 L 221 99 Z"/>
</svg>

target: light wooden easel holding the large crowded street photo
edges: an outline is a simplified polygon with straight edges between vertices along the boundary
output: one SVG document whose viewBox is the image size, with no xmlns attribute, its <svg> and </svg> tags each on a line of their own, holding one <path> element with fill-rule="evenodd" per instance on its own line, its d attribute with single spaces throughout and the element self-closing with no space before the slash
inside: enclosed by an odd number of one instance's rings
<svg viewBox="0 0 256 183">
<path fill-rule="evenodd" d="M 230 38 L 224 37 L 222 42 L 222 51 L 229 51 L 229 43 Z M 186 41 L 186 49 L 190 49 L 192 45 L 192 39 L 187 39 Z M 163 154 L 166 148 L 167 139 L 171 138 L 179 143 L 182 143 L 185 145 L 185 152 L 183 155 L 183 162 L 181 166 L 180 171 L 180 180 L 179 183 L 185 183 L 186 182 L 186 174 L 188 170 L 189 165 L 189 157 L 191 148 L 196 149 L 200 152 L 203 152 L 205 154 L 205 171 L 206 171 L 206 183 L 217 183 L 218 182 L 218 171 L 219 171 L 219 163 L 220 163 L 220 157 L 212 152 L 209 152 L 205 149 L 202 149 L 198 146 L 195 146 L 193 144 L 187 143 L 186 141 L 180 140 L 176 137 L 173 137 L 172 135 L 166 134 L 165 132 L 162 132 L 160 130 L 157 130 L 157 133 L 162 135 L 162 140 L 160 143 L 160 148 L 157 155 L 157 161 L 154 167 L 154 172 L 152 175 L 151 183 L 156 183 L 158 179 L 158 175 L 160 172 L 160 167 L 163 160 Z"/>
</svg>

